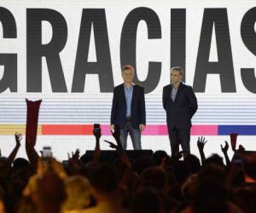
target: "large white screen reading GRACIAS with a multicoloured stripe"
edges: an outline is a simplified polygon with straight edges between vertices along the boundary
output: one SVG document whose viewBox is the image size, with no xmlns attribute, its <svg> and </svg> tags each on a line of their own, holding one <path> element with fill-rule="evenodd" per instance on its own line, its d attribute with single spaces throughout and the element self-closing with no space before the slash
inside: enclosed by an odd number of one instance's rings
<svg viewBox="0 0 256 213">
<path fill-rule="evenodd" d="M 76 147 L 93 149 L 95 123 L 111 138 L 113 87 L 123 83 L 126 64 L 145 89 L 143 148 L 170 153 L 162 89 L 171 68 L 181 66 L 199 105 L 192 144 L 205 135 L 208 152 L 218 153 L 216 144 L 236 132 L 256 149 L 255 21 L 255 2 L 244 0 L 2 0 L 2 153 L 15 146 L 15 132 L 25 133 L 26 98 L 43 100 L 38 150 L 47 144 L 66 158 Z"/>
</svg>

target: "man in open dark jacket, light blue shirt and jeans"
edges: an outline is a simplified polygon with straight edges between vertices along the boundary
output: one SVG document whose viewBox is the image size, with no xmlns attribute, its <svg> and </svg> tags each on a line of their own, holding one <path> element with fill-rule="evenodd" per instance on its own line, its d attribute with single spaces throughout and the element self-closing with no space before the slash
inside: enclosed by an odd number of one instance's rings
<svg viewBox="0 0 256 213">
<path fill-rule="evenodd" d="M 114 125 L 119 126 L 124 149 L 127 147 L 128 133 L 134 149 L 142 149 L 141 131 L 146 125 L 144 89 L 132 83 L 133 76 L 134 68 L 130 65 L 123 66 L 124 83 L 113 89 L 110 129 L 114 130 Z"/>
</svg>

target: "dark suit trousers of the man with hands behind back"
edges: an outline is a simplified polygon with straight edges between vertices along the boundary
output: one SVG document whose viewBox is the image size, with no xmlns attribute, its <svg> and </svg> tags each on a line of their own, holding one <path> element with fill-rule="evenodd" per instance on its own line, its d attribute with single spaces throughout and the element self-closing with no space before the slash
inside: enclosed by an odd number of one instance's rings
<svg viewBox="0 0 256 213">
<path fill-rule="evenodd" d="M 168 126 L 168 134 L 171 144 L 172 155 L 176 155 L 179 152 L 179 145 L 181 145 L 183 151 L 185 151 L 186 153 L 190 153 L 190 127 L 183 129 L 177 129 L 176 127 L 174 127 L 171 129 Z"/>
</svg>

